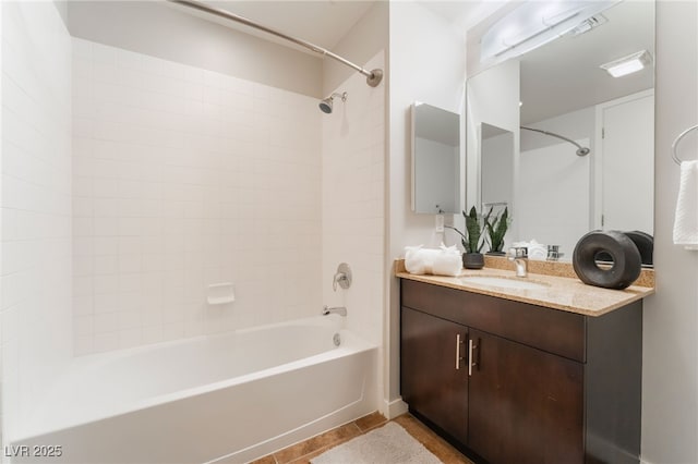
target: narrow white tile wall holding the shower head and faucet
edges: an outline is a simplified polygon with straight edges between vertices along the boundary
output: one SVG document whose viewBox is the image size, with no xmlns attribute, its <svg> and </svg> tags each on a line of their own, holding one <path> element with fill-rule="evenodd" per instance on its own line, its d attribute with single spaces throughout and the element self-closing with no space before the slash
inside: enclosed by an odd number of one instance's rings
<svg viewBox="0 0 698 464">
<path fill-rule="evenodd" d="M 381 52 L 366 69 L 384 68 Z M 383 340 L 385 282 L 385 83 L 375 88 L 356 74 L 334 91 L 332 114 L 323 115 L 323 297 L 346 305 L 347 325 L 368 340 Z M 333 291 L 339 262 L 353 282 Z"/>
</svg>

